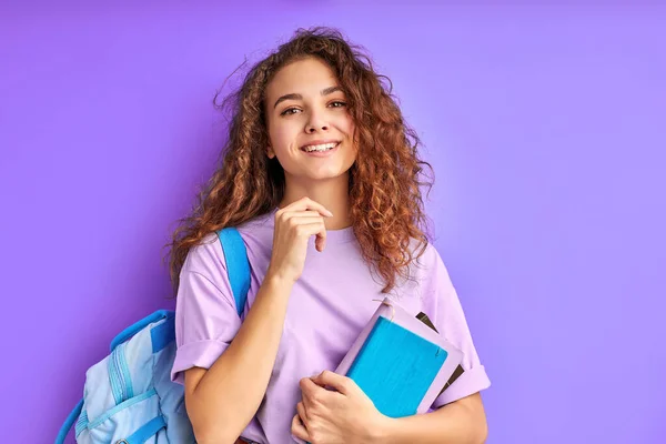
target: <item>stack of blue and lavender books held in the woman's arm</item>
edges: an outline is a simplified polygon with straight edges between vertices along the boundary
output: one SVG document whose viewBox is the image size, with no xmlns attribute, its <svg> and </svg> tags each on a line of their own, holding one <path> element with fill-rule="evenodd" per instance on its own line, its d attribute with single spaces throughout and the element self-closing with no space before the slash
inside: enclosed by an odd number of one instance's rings
<svg viewBox="0 0 666 444">
<path fill-rule="evenodd" d="M 426 413 L 463 372 L 463 353 L 424 313 L 381 301 L 335 373 L 352 379 L 386 416 Z"/>
</svg>

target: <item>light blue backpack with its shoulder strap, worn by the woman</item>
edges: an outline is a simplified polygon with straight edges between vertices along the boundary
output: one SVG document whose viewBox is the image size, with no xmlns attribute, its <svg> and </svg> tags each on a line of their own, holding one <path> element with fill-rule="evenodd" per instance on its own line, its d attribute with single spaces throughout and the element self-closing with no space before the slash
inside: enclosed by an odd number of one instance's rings
<svg viewBox="0 0 666 444">
<path fill-rule="evenodd" d="M 239 316 L 250 289 L 245 244 L 233 228 L 218 232 Z M 195 443 L 184 387 L 171 381 L 175 313 L 159 310 L 123 330 L 111 354 L 85 373 L 83 400 L 69 414 L 56 444 L 72 425 L 79 444 Z"/>
</svg>

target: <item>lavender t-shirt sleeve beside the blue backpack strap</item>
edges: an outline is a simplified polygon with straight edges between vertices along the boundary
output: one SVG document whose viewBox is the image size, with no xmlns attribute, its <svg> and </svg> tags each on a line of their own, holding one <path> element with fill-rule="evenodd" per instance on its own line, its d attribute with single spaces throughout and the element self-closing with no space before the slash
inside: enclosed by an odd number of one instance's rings
<svg viewBox="0 0 666 444">
<path fill-rule="evenodd" d="M 180 273 L 171 380 L 184 384 L 185 370 L 210 369 L 240 327 L 222 246 L 209 235 L 189 251 Z"/>
</svg>

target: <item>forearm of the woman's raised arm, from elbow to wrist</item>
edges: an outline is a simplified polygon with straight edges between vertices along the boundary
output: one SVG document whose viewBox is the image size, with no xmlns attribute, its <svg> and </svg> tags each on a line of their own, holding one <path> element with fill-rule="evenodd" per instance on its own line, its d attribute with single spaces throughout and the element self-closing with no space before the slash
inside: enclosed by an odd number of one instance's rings
<svg viewBox="0 0 666 444">
<path fill-rule="evenodd" d="M 229 347 L 186 394 L 198 442 L 233 443 L 269 385 L 293 283 L 266 278 Z"/>
</svg>

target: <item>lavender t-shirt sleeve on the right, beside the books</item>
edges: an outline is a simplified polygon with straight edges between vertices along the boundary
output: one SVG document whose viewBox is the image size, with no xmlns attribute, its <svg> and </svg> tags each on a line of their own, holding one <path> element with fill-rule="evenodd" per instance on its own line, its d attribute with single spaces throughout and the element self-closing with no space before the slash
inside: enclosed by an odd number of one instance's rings
<svg viewBox="0 0 666 444">
<path fill-rule="evenodd" d="M 476 353 L 465 313 L 442 258 L 432 244 L 424 256 L 430 265 L 425 268 L 424 311 L 437 332 L 463 352 L 464 373 L 434 401 L 432 408 L 440 408 L 490 387 L 491 381 Z"/>
</svg>

